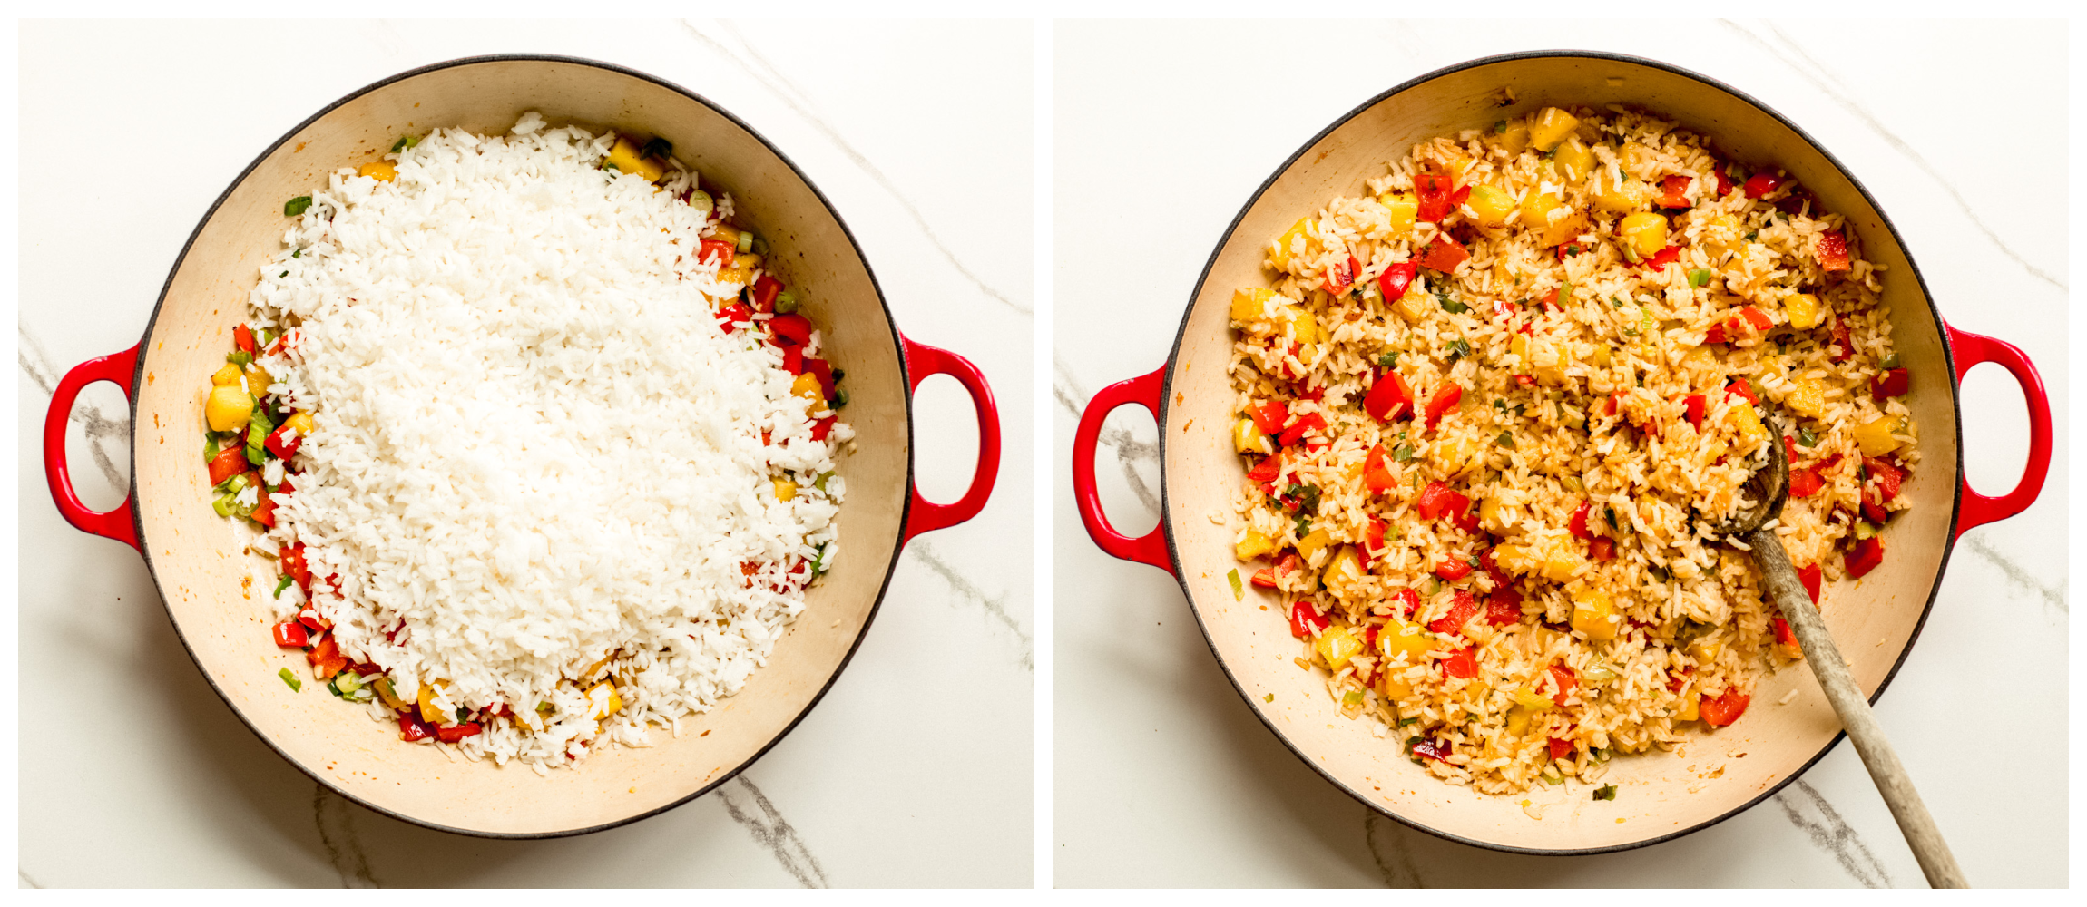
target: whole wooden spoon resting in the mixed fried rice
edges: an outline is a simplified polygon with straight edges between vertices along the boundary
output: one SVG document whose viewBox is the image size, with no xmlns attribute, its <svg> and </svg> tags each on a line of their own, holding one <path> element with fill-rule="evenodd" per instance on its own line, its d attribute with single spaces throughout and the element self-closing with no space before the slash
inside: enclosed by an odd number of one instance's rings
<svg viewBox="0 0 2087 907">
<path fill-rule="evenodd" d="M 1768 465 L 1747 480 L 1747 490 L 1759 505 L 1749 513 L 1734 513 L 1713 532 L 1730 536 L 1728 540 L 1736 544 L 1743 540 L 1753 550 L 1753 563 L 1761 567 L 1761 586 L 1774 596 L 1776 607 L 1782 609 L 1782 617 L 1791 621 L 1791 630 L 1797 632 L 1797 644 L 1803 646 L 1805 663 L 1820 678 L 1826 701 L 1832 703 L 1832 711 L 1841 717 L 1849 742 L 1855 744 L 1855 753 L 1862 755 L 1862 763 L 1870 769 L 1870 780 L 1876 782 L 1876 792 L 1885 794 L 1885 805 L 1899 819 L 1899 832 L 1905 834 L 1905 844 L 1914 849 L 1914 859 L 1920 861 L 1920 872 L 1928 876 L 1928 886 L 1970 888 L 1964 882 L 1964 869 L 1958 867 L 1956 857 L 1949 853 L 1949 844 L 1943 842 L 1943 832 L 1935 828 L 1935 817 L 1920 803 L 1920 792 L 1914 790 L 1912 776 L 1905 774 L 1899 755 L 1891 751 L 1885 728 L 1870 713 L 1870 701 L 1862 696 L 1855 678 L 1849 676 L 1847 661 L 1841 661 L 1841 648 L 1834 646 L 1832 634 L 1826 632 L 1826 621 L 1812 605 L 1812 594 L 1805 592 L 1803 580 L 1797 578 L 1791 555 L 1782 550 L 1782 540 L 1776 538 L 1772 519 L 1782 513 L 1782 500 L 1791 492 L 1791 463 L 1782 452 L 1782 432 L 1776 427 L 1776 419 L 1766 415 L 1768 407 L 1761 409 L 1761 421 L 1770 430 Z"/>
</svg>

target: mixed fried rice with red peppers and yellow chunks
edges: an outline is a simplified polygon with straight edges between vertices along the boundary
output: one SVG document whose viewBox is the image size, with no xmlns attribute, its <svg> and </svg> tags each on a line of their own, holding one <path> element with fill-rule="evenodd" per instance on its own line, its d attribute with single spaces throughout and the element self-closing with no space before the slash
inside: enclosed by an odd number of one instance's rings
<svg viewBox="0 0 2087 907">
<path fill-rule="evenodd" d="M 1814 598 L 1882 559 L 1918 455 L 1878 267 L 1732 167 L 1622 108 L 1436 138 L 1233 300 L 1238 557 L 1340 709 L 1450 784 L 1599 778 L 1801 657 L 1709 536 L 1764 444 Z"/>
</svg>

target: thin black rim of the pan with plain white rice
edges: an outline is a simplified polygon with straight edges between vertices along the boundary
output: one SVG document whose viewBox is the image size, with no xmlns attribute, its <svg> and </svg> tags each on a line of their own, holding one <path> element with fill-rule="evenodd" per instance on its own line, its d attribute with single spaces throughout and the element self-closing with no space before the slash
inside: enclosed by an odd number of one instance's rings
<svg viewBox="0 0 2087 907">
<path fill-rule="evenodd" d="M 724 117 L 735 127 L 743 129 L 747 136 L 751 136 L 764 148 L 768 148 L 768 152 L 774 154 L 776 161 L 781 161 L 785 167 L 789 167 L 789 171 L 799 181 L 803 181 L 803 186 L 808 190 L 812 190 L 812 196 L 818 198 L 818 202 L 826 209 L 826 215 L 831 215 L 833 221 L 835 221 L 835 225 L 841 227 L 841 236 L 847 238 L 849 248 L 856 252 L 856 261 L 862 263 L 862 271 L 870 279 L 870 290 L 877 296 L 877 307 L 885 313 L 885 327 L 891 332 L 891 346 L 893 346 L 893 350 L 897 354 L 897 361 L 899 361 L 899 382 L 902 382 L 904 400 L 906 400 L 906 488 L 910 492 L 912 486 L 914 486 L 914 455 L 912 455 L 912 450 L 914 450 L 912 363 L 906 361 L 906 342 L 899 336 L 897 321 L 891 317 L 891 307 L 885 302 L 885 290 L 877 281 L 877 271 L 870 269 L 870 259 L 862 252 L 862 242 L 856 240 L 854 229 L 849 229 L 847 221 L 841 219 L 841 213 L 835 211 L 833 200 L 826 198 L 826 194 L 818 188 L 818 183 L 814 183 L 812 177 L 801 167 L 797 167 L 795 161 L 789 158 L 789 154 L 783 154 L 783 148 L 776 148 L 776 144 L 770 142 L 768 136 L 762 136 L 758 129 L 753 129 L 753 125 L 749 125 L 747 121 L 735 117 L 730 111 L 726 111 L 718 102 L 714 102 L 710 98 L 703 98 L 701 94 L 695 94 L 695 92 L 691 92 L 691 90 L 687 90 L 687 88 L 682 88 L 682 85 L 678 85 L 674 81 L 662 79 L 657 75 L 643 73 L 643 71 L 637 71 L 637 69 L 630 69 L 630 67 L 622 67 L 622 65 L 616 65 L 616 63 L 591 60 L 591 58 L 584 58 L 584 56 L 561 56 L 561 54 L 480 54 L 480 56 L 459 56 L 459 58 L 453 58 L 453 60 L 430 63 L 426 67 L 407 69 L 403 73 L 394 73 L 394 75 L 388 75 L 384 79 L 371 81 L 371 83 L 367 83 L 363 88 L 357 88 L 357 90 L 340 96 L 338 100 L 326 104 L 323 108 L 319 108 L 317 113 L 313 113 L 305 121 L 296 123 L 288 131 L 284 131 L 282 138 L 278 138 L 275 142 L 271 142 L 267 148 L 263 148 L 261 154 L 257 154 L 253 158 L 253 163 L 248 163 L 236 177 L 232 177 L 232 183 L 225 186 L 225 192 L 221 192 L 217 196 L 217 200 L 213 200 L 211 206 L 202 213 L 202 219 L 196 221 L 196 229 L 188 234 L 188 242 L 182 244 L 182 252 L 175 254 L 173 267 L 167 271 L 167 281 L 161 284 L 159 298 L 152 302 L 152 315 L 146 319 L 144 336 L 138 340 L 140 354 L 138 354 L 136 367 L 131 369 L 131 388 L 140 388 L 142 382 L 144 382 L 144 371 L 146 371 L 144 369 L 144 361 L 146 361 L 146 352 L 148 352 L 146 344 L 152 340 L 152 327 L 159 325 L 159 313 L 167 304 L 167 294 L 173 290 L 173 277 L 177 273 L 182 273 L 182 265 L 188 261 L 188 252 L 196 246 L 196 238 L 202 236 L 202 227 L 207 227 L 211 223 L 211 219 L 217 217 L 217 211 L 225 204 L 225 198 L 230 198 L 232 192 L 238 190 L 240 183 L 244 183 L 246 177 L 253 175 L 253 171 L 259 169 L 261 163 L 267 161 L 267 156 L 275 152 L 275 148 L 282 148 L 286 142 L 290 142 L 292 138 L 296 138 L 296 133 L 305 131 L 307 127 L 311 127 L 313 123 L 317 123 L 326 115 L 334 113 L 342 104 L 349 104 L 355 98 L 361 98 L 361 96 L 365 96 L 369 92 L 376 92 L 376 90 L 382 90 L 382 88 L 388 88 L 392 83 L 399 83 L 399 81 L 405 81 L 405 79 L 413 79 L 413 77 L 419 77 L 419 75 L 436 73 L 436 71 L 442 71 L 442 69 L 474 67 L 474 65 L 486 65 L 486 63 L 555 63 L 555 65 L 605 69 L 605 71 L 611 71 L 611 73 L 618 73 L 618 75 L 626 75 L 626 77 L 632 77 L 632 79 L 641 79 L 641 81 L 649 81 L 653 85 L 666 88 L 666 90 L 676 92 L 676 94 L 680 94 L 680 96 L 685 96 L 685 98 L 689 98 L 689 100 L 693 100 L 697 104 L 707 106 L 710 111 L 714 111 L 716 115 Z M 138 400 L 136 400 L 136 396 L 129 396 L 129 411 L 131 411 L 131 425 L 138 425 Z M 138 475 L 136 430 L 134 430 L 134 438 L 131 438 L 131 475 Z M 294 769 L 303 771 L 313 782 L 326 786 L 334 794 L 338 794 L 338 796 L 342 796 L 342 799 L 346 799 L 346 801 L 351 801 L 355 805 L 361 805 L 361 807 L 365 807 L 369 811 L 376 811 L 376 813 L 382 813 L 382 815 L 388 815 L 392 819 L 407 822 L 407 824 L 413 824 L 413 826 L 419 826 L 419 828 L 432 828 L 436 832 L 451 832 L 451 834 L 461 834 L 461 836 L 472 836 L 472 838 L 490 838 L 490 840 L 570 838 L 570 836 L 578 836 L 578 834 L 605 832 L 609 828 L 628 826 L 632 822 L 641 822 L 641 819 L 649 819 L 653 815 L 666 813 L 666 811 L 670 811 L 674 807 L 680 807 L 680 805 L 685 805 L 685 803 L 689 803 L 689 801 L 693 801 L 697 796 L 703 796 L 703 794 L 716 790 L 718 786 L 722 786 L 724 782 L 728 782 L 733 778 L 739 778 L 741 771 L 745 771 L 749 765 L 753 765 L 764 755 L 768 755 L 770 749 L 774 749 L 778 742 L 783 742 L 783 738 L 789 736 L 789 732 L 797 730 L 797 724 L 801 724 L 806 719 L 806 715 L 810 715 L 812 709 L 820 701 L 826 698 L 826 692 L 833 690 L 833 684 L 841 678 L 841 671 L 845 671 L 847 665 L 849 665 L 849 661 L 856 659 L 856 653 L 862 648 L 862 640 L 870 634 L 870 626 L 877 621 L 877 613 L 883 609 L 885 592 L 891 590 L 891 575 L 897 571 L 899 555 L 904 555 L 904 550 L 906 550 L 906 523 L 908 523 L 908 519 L 912 519 L 912 494 L 904 494 L 902 500 L 899 500 L 899 532 L 897 532 L 897 538 L 893 540 L 891 557 L 885 563 L 885 578 L 877 586 L 877 600 L 870 603 L 870 613 L 868 613 L 868 617 L 864 617 L 862 630 L 856 632 L 856 638 L 854 638 L 854 642 L 849 642 L 847 653 L 841 655 L 841 661 L 833 667 L 833 673 L 826 676 L 826 682 L 818 688 L 816 694 L 812 694 L 812 698 L 803 705 L 803 709 L 797 711 L 797 715 L 791 717 L 789 724 L 783 726 L 783 730 L 778 730 L 768 742 L 764 742 L 758 751 L 753 751 L 753 755 L 749 755 L 745 761 L 741 761 L 739 765 L 733 765 L 730 771 L 720 774 L 710 784 L 703 784 L 695 792 L 691 792 L 691 794 L 687 794 L 687 796 L 682 796 L 682 799 L 678 799 L 674 803 L 666 803 L 662 807 L 647 809 L 643 813 L 634 813 L 634 815 L 628 815 L 628 817 L 622 817 L 622 819 L 603 822 L 603 824 L 584 826 L 584 828 L 551 830 L 551 832 L 482 832 L 482 830 L 455 828 L 455 826 L 445 826 L 445 824 L 438 824 L 438 822 L 419 819 L 419 817 L 394 811 L 394 809 L 380 807 L 380 805 L 369 803 L 369 801 L 365 801 L 361 796 L 355 796 L 355 794 L 342 790 L 340 786 L 328 782 L 317 771 L 309 769 L 305 763 L 292 759 L 288 753 L 282 751 L 282 746 L 275 746 L 273 738 L 269 738 L 267 734 L 263 734 L 259 728 L 255 728 L 255 724 L 246 717 L 246 713 L 240 711 L 240 707 L 232 703 L 232 696 L 227 696 L 225 690 L 217 684 L 217 678 L 211 676 L 211 671 L 202 667 L 202 661 L 196 657 L 196 648 L 188 642 L 188 636 L 182 632 L 182 621 L 177 621 L 173 617 L 173 607 L 167 605 L 167 592 L 165 592 L 165 588 L 159 582 L 159 567 L 152 561 L 152 546 L 146 542 L 146 536 L 144 536 L 144 519 L 140 517 L 140 509 L 138 509 L 138 502 L 136 502 L 136 488 L 131 490 L 131 498 L 127 500 L 127 507 L 129 507 L 129 515 L 131 515 L 131 532 L 136 532 L 136 536 L 138 536 L 138 553 L 144 555 L 146 571 L 152 575 L 152 588 L 159 592 L 161 609 L 167 611 L 167 621 L 173 626 L 173 636 L 177 640 L 182 640 L 182 648 L 188 653 L 188 659 L 196 665 L 196 671 L 202 673 L 202 680 L 207 684 L 211 684 L 211 692 L 217 692 L 217 698 L 221 698 L 225 703 L 225 707 L 232 709 L 232 715 L 238 717 L 240 724 L 244 724 L 248 732 L 253 732 L 269 751 L 273 751 L 278 757 L 282 757 L 284 763 L 292 765 Z"/>
</svg>

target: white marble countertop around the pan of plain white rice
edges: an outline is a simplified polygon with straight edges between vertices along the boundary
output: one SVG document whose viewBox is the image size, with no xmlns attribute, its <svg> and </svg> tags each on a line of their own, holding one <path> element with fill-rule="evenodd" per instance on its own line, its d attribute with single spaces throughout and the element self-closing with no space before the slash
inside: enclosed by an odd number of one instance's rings
<svg viewBox="0 0 2087 907">
<path fill-rule="evenodd" d="M 23 23 L 19 38 L 19 884 L 1031 884 L 1029 23 Z M 369 81 L 488 52 L 620 63 L 751 123 L 847 219 L 899 325 L 970 357 L 1002 411 L 998 494 L 908 546 L 803 724 L 716 792 L 580 838 L 430 832 L 278 759 L 202 682 L 138 555 L 58 517 L 38 444 L 56 377 L 138 342 L 188 234 L 255 154 Z M 111 386 L 81 400 L 75 475 L 109 507 L 127 415 Z M 916 409 L 925 492 L 954 500 L 970 405 L 939 377 Z"/>
</svg>

